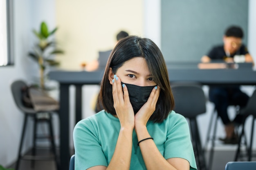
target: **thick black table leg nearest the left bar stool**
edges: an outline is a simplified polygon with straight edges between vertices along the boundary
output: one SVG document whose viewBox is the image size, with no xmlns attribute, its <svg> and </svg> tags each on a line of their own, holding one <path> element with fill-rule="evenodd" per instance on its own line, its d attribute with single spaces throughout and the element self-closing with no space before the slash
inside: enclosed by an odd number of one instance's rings
<svg viewBox="0 0 256 170">
<path fill-rule="evenodd" d="M 60 84 L 60 169 L 69 170 L 70 163 L 70 133 L 69 133 L 69 85 Z"/>
</svg>

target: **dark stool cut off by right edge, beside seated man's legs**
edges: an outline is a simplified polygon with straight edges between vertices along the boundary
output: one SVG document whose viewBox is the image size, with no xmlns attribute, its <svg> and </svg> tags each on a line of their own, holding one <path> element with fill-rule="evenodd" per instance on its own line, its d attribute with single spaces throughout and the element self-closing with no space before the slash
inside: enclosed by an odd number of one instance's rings
<svg viewBox="0 0 256 170">
<path fill-rule="evenodd" d="M 236 150 L 236 155 L 235 155 L 235 160 L 234 161 L 237 161 L 238 158 L 242 158 L 242 157 L 247 157 L 247 160 L 251 161 L 252 157 L 256 156 L 256 155 L 253 155 L 253 153 L 252 153 L 254 124 L 255 124 L 255 120 L 256 120 L 256 89 L 254 90 L 252 96 L 249 98 L 249 101 L 248 101 L 246 107 L 240 110 L 240 114 L 243 114 L 243 115 L 247 116 L 247 118 L 242 123 L 243 128 L 242 128 L 242 131 L 239 135 L 238 148 Z M 242 144 L 242 137 L 244 137 L 244 139 L 246 139 L 246 136 L 245 136 L 245 122 L 246 122 L 246 120 L 248 119 L 249 116 L 252 116 L 251 136 L 250 136 L 250 140 L 249 140 L 249 146 L 246 145 L 246 155 L 242 155 L 241 150 L 240 150 L 240 146 Z M 256 169 L 256 167 L 255 167 L 255 169 Z"/>
</svg>

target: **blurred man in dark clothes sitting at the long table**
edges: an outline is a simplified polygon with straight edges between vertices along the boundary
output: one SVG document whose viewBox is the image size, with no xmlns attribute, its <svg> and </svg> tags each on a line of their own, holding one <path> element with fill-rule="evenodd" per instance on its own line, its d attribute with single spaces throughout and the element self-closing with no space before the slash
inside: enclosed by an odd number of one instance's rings
<svg viewBox="0 0 256 170">
<path fill-rule="evenodd" d="M 207 63 L 213 60 L 223 60 L 227 63 L 233 63 L 234 58 L 239 56 L 239 62 L 253 63 L 252 56 L 242 43 L 242 38 L 243 30 L 240 27 L 229 27 L 223 36 L 224 44 L 213 47 L 207 56 L 201 58 L 201 61 Z M 227 114 L 227 107 L 229 105 L 239 105 L 240 108 L 245 107 L 249 96 L 243 93 L 239 86 L 210 86 L 209 99 L 215 104 L 218 115 L 225 125 L 226 137 L 220 140 L 229 144 L 237 143 L 238 139 L 234 132 L 234 126 L 242 123 L 244 117 L 237 114 L 236 118 L 231 121 Z"/>
</svg>

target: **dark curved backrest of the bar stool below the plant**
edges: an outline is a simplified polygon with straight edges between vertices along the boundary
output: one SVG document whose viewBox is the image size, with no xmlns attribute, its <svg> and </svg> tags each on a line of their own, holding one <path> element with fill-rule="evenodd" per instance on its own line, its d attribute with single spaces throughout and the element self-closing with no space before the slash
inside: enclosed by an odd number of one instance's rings
<svg viewBox="0 0 256 170">
<path fill-rule="evenodd" d="M 17 105 L 17 107 L 24 111 L 26 110 L 25 106 L 22 103 L 22 91 L 21 89 L 26 87 L 27 84 L 22 80 L 17 80 L 11 83 L 11 93 L 13 95 L 13 99 Z"/>
</svg>

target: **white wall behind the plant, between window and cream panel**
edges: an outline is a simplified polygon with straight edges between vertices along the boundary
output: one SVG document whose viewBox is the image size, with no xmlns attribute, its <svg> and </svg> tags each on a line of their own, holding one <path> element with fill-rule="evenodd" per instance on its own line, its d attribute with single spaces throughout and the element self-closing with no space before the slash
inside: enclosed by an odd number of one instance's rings
<svg viewBox="0 0 256 170">
<path fill-rule="evenodd" d="M 51 3 L 51 5 L 47 5 Z M 44 0 L 41 3 L 34 0 L 13 0 L 13 32 L 14 32 L 14 65 L 0 67 L 0 164 L 9 166 L 16 161 L 18 145 L 24 115 L 16 107 L 10 90 L 10 84 L 16 79 L 24 79 L 32 83 L 38 75 L 38 67 L 27 53 L 33 44 L 32 28 L 39 29 L 42 19 L 49 20 L 54 25 L 54 3 Z M 31 129 L 31 122 L 29 127 Z M 26 136 L 25 150 L 32 139 Z M 25 151 L 24 150 L 24 151 Z"/>
</svg>

